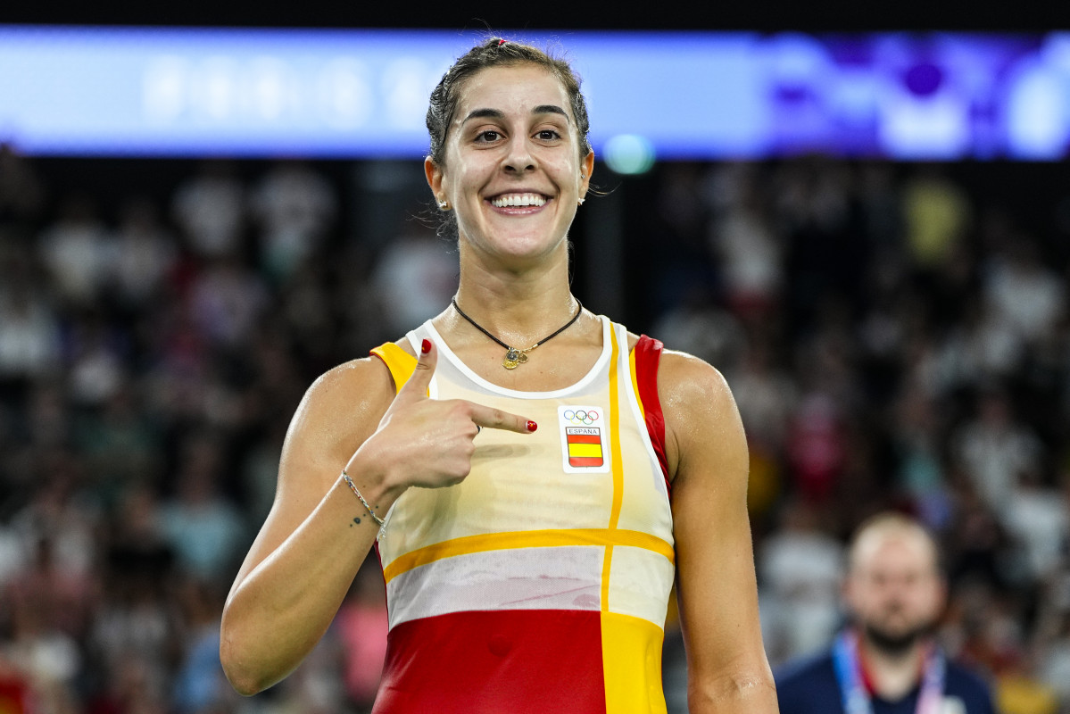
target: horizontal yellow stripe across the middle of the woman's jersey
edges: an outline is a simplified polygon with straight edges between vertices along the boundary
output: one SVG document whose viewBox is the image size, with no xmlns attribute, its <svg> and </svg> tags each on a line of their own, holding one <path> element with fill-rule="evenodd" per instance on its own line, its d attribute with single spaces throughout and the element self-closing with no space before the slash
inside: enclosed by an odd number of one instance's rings
<svg viewBox="0 0 1070 714">
<path fill-rule="evenodd" d="M 505 550 L 508 548 L 545 548 L 553 546 L 633 546 L 653 550 L 675 563 L 676 553 L 673 547 L 661 538 L 643 533 L 607 528 L 571 528 L 561 530 L 511 531 L 505 533 L 485 533 L 465 535 L 464 537 L 435 543 L 433 545 L 412 550 L 395 558 L 383 568 L 383 579 L 389 582 L 402 573 L 414 567 L 432 563 L 444 558 L 464 556 L 468 553 L 486 552 L 488 550 Z"/>
</svg>

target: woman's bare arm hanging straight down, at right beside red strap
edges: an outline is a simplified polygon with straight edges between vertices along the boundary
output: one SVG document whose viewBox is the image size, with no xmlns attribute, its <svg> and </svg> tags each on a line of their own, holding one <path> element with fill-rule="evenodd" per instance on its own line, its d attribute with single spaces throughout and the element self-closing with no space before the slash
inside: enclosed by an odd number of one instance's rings
<svg viewBox="0 0 1070 714">
<path fill-rule="evenodd" d="M 749 453 L 735 400 L 720 373 L 678 352 L 664 353 L 658 391 L 692 688 L 744 681 L 771 688 L 747 513 Z"/>
</svg>

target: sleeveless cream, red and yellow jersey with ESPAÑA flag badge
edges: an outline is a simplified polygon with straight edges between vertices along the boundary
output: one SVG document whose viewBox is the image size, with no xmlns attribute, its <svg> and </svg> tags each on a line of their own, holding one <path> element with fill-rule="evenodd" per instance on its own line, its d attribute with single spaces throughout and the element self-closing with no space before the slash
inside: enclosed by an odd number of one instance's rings
<svg viewBox="0 0 1070 714">
<path fill-rule="evenodd" d="M 424 338 L 439 350 L 431 398 L 469 399 L 538 429 L 483 429 L 461 484 L 410 488 L 387 513 L 378 550 L 389 636 L 374 714 L 666 711 L 675 566 L 661 346 L 644 336 L 629 353 L 626 330 L 600 319 L 597 362 L 552 392 L 491 384 L 430 322 L 409 333 L 415 351 Z M 397 389 L 415 368 L 396 345 L 372 353 Z"/>
</svg>

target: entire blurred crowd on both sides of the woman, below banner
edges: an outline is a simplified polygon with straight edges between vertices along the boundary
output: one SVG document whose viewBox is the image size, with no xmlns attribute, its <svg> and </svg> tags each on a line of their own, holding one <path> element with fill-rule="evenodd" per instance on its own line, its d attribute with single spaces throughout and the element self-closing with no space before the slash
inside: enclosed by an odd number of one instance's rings
<svg viewBox="0 0 1070 714">
<path fill-rule="evenodd" d="M 0 149 L 0 711 L 366 711 L 373 556 L 262 695 L 223 679 L 218 621 L 305 389 L 456 289 L 426 188 L 389 163 L 190 163 L 163 193 L 48 169 Z M 643 196 L 639 302 L 606 312 L 718 366 L 743 414 L 770 662 L 829 642 L 844 538 L 893 507 L 945 546 L 948 650 L 1006 714 L 1070 711 L 1070 195 L 812 157 L 613 181 Z M 670 711 L 679 665 L 671 625 Z"/>
</svg>

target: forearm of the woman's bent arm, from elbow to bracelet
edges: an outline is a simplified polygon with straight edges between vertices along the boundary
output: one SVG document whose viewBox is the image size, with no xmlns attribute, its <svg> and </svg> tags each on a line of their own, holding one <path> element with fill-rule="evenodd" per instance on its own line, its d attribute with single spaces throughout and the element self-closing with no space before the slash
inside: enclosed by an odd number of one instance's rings
<svg viewBox="0 0 1070 714">
<path fill-rule="evenodd" d="M 385 515 L 385 493 L 364 495 Z M 224 608 L 219 649 L 235 689 L 260 692 L 302 662 L 331 625 L 378 532 L 339 478 L 281 545 L 239 576 Z"/>
</svg>

